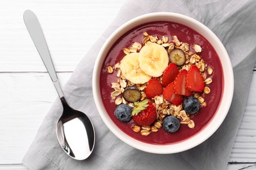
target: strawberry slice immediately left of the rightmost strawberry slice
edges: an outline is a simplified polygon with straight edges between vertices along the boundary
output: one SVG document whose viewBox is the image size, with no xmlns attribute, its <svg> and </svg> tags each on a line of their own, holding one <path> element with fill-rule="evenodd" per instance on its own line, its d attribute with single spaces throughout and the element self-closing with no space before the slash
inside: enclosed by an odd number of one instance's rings
<svg viewBox="0 0 256 170">
<path fill-rule="evenodd" d="M 186 89 L 186 75 L 188 71 L 182 70 L 179 75 L 174 80 L 174 92 L 179 95 L 186 95 L 190 96 L 192 95 L 192 92 L 190 90 Z"/>
</svg>

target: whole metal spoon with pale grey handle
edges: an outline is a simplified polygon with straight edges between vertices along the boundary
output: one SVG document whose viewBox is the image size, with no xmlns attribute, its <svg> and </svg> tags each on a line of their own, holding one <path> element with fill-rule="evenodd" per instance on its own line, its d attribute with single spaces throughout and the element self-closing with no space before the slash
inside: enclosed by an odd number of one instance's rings
<svg viewBox="0 0 256 170">
<path fill-rule="evenodd" d="M 26 10 L 23 14 L 23 18 L 28 32 L 30 33 L 30 37 L 53 80 L 53 84 L 63 105 L 62 116 L 60 116 L 56 125 L 58 143 L 60 143 L 62 149 L 70 157 L 75 160 L 85 160 L 91 155 L 95 146 L 95 129 L 93 124 L 86 114 L 72 109 L 64 99 L 53 66 L 53 61 L 43 35 L 43 30 L 37 17 L 31 10 Z"/>
</svg>

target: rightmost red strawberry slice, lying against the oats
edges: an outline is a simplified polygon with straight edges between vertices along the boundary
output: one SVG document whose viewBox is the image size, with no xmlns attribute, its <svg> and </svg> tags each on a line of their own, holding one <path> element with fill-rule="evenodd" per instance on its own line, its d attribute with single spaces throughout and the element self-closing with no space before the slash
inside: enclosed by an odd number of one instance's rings
<svg viewBox="0 0 256 170">
<path fill-rule="evenodd" d="M 186 88 L 194 92 L 202 92 L 204 88 L 203 76 L 196 65 L 191 65 L 186 75 Z"/>
</svg>

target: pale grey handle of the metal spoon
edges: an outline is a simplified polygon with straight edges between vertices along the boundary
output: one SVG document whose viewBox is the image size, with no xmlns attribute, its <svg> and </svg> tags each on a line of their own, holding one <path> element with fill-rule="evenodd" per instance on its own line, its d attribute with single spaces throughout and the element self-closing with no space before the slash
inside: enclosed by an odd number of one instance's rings
<svg viewBox="0 0 256 170">
<path fill-rule="evenodd" d="M 45 36 L 43 35 L 43 30 L 37 17 L 31 10 L 26 10 L 23 14 L 24 23 L 30 33 L 30 37 L 47 68 L 49 75 L 53 81 L 53 84 L 58 92 L 59 97 L 64 97 L 63 92 L 60 88 L 60 82 L 58 81 L 58 77 L 56 75 L 56 71 L 54 69 L 53 61 L 51 59 L 51 54 L 49 52 L 49 48 L 47 46 L 47 42 L 45 41 Z"/>
</svg>

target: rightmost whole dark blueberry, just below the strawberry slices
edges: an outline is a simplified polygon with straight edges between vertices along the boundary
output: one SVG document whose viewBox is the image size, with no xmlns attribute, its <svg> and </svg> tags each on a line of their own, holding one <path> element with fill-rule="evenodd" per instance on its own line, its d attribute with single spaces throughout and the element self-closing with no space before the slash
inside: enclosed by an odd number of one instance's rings
<svg viewBox="0 0 256 170">
<path fill-rule="evenodd" d="M 195 114 L 200 109 L 200 103 L 196 97 L 190 96 L 184 99 L 183 108 L 189 114 Z"/>
</svg>

